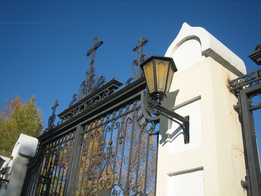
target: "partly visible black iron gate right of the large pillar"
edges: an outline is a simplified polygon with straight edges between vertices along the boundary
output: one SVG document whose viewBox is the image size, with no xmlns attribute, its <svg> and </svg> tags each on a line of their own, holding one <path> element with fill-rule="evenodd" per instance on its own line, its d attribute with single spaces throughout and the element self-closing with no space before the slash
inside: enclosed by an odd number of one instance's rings
<svg viewBox="0 0 261 196">
<path fill-rule="evenodd" d="M 249 57 L 256 64 L 261 65 L 261 44 L 254 48 L 254 53 Z M 229 86 L 230 90 L 238 97 L 235 109 L 239 112 L 243 130 L 246 181 L 241 181 L 241 185 L 248 190 L 249 196 L 258 196 L 261 195 L 261 172 L 253 111 L 261 108 L 261 101 L 253 103 L 253 97 L 257 96 L 261 99 L 261 69 L 231 80 Z"/>
</svg>

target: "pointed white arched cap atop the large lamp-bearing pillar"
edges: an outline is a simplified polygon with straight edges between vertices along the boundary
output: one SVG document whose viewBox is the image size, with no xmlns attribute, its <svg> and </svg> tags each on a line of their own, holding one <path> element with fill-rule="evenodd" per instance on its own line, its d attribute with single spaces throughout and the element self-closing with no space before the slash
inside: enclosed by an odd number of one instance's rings
<svg viewBox="0 0 261 196">
<path fill-rule="evenodd" d="M 165 56 L 172 57 L 179 73 L 211 57 L 237 76 L 246 74 L 244 62 L 202 27 L 191 27 L 186 22 L 169 46 Z"/>
</svg>

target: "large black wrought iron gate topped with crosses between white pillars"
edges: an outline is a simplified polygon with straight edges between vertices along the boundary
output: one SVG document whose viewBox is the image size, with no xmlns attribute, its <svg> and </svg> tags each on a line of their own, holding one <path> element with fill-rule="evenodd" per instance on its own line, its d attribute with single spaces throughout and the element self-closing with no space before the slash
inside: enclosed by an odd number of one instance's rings
<svg viewBox="0 0 261 196">
<path fill-rule="evenodd" d="M 36 155 L 30 160 L 22 195 L 155 195 L 159 117 L 149 107 L 141 54 L 148 40 L 140 38 L 133 50 L 134 78 L 125 87 L 115 79 L 95 74 L 94 38 L 86 80 L 69 107 L 58 115 L 55 108 L 48 128 L 39 136 Z M 135 72 L 135 68 L 138 71 Z"/>
</svg>

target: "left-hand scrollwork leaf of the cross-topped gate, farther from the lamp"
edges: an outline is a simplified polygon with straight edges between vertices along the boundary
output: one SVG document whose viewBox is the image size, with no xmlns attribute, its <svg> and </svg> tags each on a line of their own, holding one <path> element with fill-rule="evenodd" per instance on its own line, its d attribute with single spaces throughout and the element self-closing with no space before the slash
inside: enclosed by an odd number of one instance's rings
<svg viewBox="0 0 261 196">
<path fill-rule="evenodd" d="M 75 131 L 66 134 L 44 147 L 36 195 L 63 194 L 70 167 L 74 134 Z"/>
</svg>

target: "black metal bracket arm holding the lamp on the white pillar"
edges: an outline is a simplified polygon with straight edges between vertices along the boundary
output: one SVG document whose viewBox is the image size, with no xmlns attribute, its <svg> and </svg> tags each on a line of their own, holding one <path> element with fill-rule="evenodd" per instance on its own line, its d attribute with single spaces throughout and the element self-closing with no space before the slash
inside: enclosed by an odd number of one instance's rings
<svg viewBox="0 0 261 196">
<path fill-rule="evenodd" d="M 158 103 L 153 103 L 152 105 L 153 108 L 157 109 L 157 113 L 161 114 L 162 116 L 172 120 L 173 122 L 179 124 L 184 132 L 184 143 L 187 144 L 189 143 L 189 116 L 183 117 L 176 112 L 173 112 L 172 110 L 163 107 L 162 105 Z M 181 121 L 184 123 L 184 126 L 178 122 L 177 120 L 174 120 L 173 118 Z"/>
</svg>

